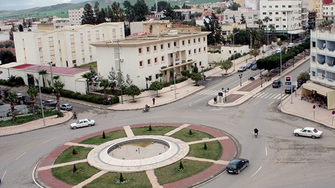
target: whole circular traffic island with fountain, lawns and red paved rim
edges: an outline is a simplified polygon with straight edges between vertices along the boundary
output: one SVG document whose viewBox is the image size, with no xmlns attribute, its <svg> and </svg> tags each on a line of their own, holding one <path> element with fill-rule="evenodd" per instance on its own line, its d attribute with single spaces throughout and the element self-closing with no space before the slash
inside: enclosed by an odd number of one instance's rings
<svg viewBox="0 0 335 188">
<path fill-rule="evenodd" d="M 127 125 L 60 145 L 34 176 L 50 188 L 190 187 L 224 172 L 236 146 L 226 133 L 202 125 Z"/>
</svg>

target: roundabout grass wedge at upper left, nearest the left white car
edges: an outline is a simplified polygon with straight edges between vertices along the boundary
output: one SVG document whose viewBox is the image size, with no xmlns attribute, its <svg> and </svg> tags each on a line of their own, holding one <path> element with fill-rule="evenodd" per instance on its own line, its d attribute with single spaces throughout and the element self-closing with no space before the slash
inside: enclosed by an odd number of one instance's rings
<svg viewBox="0 0 335 188">
<path fill-rule="evenodd" d="M 105 143 L 105 142 L 108 142 L 108 141 L 111 141 L 111 140 L 127 137 L 127 134 L 126 134 L 125 130 L 123 130 L 123 129 L 122 130 L 116 130 L 116 131 L 113 131 L 113 132 L 108 132 L 105 135 L 106 135 L 105 139 L 102 138 L 102 134 L 101 134 L 101 135 L 94 136 L 94 137 L 88 138 L 86 140 L 83 140 L 80 143 L 81 144 L 100 145 L 102 143 Z"/>
</svg>

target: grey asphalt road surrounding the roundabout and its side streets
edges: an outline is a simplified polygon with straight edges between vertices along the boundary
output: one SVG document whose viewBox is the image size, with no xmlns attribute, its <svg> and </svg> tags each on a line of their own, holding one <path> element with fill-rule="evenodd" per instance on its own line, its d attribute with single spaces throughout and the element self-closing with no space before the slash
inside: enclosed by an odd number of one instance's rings
<svg viewBox="0 0 335 188">
<path fill-rule="evenodd" d="M 308 63 L 297 67 L 293 75 L 308 69 Z M 243 72 L 243 81 L 260 71 Z M 208 77 L 204 90 L 239 86 L 238 73 L 230 77 Z M 190 123 L 221 129 L 236 139 L 239 157 L 250 160 L 250 166 L 239 175 L 223 173 L 200 185 L 201 188 L 305 188 L 334 187 L 334 130 L 277 110 L 280 89 L 266 88 L 271 97 L 257 97 L 230 108 L 208 106 L 212 94 L 188 96 L 175 103 L 155 107 L 149 113 L 107 111 L 75 105 L 78 118 L 96 120 L 96 125 L 70 129 L 69 123 L 22 134 L 0 137 L 0 177 L 3 188 L 36 188 L 33 169 L 40 158 L 58 145 L 91 132 L 138 123 Z M 282 89 L 284 92 L 284 87 Z M 264 94 L 265 95 L 265 94 Z M 288 96 L 283 94 L 283 96 Z M 71 122 L 71 121 L 70 121 Z M 253 129 L 258 127 L 259 137 Z M 324 131 L 320 139 L 293 136 L 296 127 L 312 126 Z M 224 152 L 224 151 L 223 151 Z"/>
</svg>

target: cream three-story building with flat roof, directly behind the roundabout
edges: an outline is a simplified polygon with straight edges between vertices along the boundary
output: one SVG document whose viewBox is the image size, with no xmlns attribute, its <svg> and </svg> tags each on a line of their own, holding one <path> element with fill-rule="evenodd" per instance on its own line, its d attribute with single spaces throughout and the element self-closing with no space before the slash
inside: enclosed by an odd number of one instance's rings
<svg viewBox="0 0 335 188">
<path fill-rule="evenodd" d="M 129 74 L 139 88 L 148 83 L 173 80 L 173 69 L 177 77 L 191 66 L 208 67 L 207 35 L 210 32 L 145 35 L 114 42 L 91 43 L 97 51 L 98 72 L 108 78 L 111 68 Z M 121 68 L 119 66 L 121 65 Z"/>
</svg>

